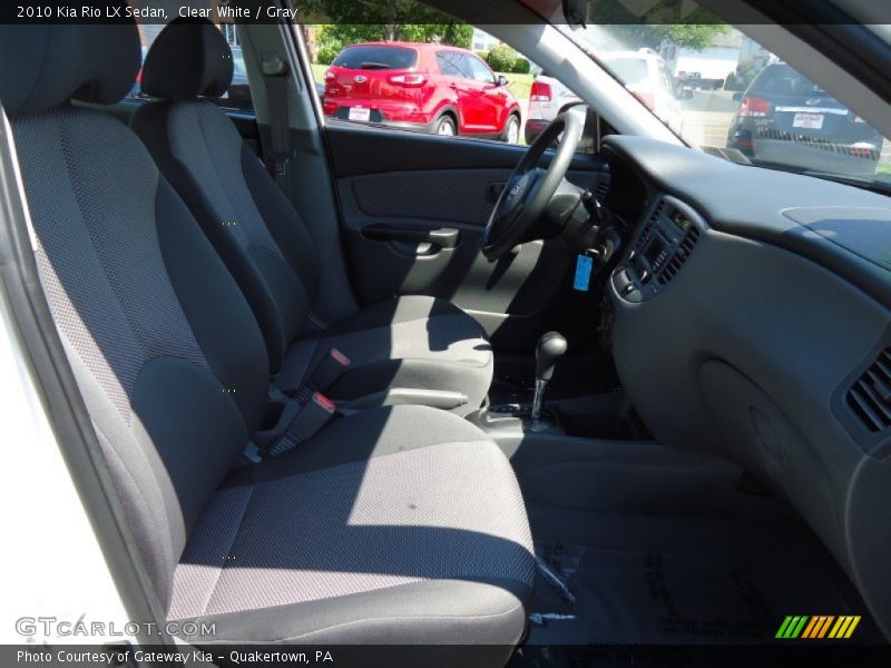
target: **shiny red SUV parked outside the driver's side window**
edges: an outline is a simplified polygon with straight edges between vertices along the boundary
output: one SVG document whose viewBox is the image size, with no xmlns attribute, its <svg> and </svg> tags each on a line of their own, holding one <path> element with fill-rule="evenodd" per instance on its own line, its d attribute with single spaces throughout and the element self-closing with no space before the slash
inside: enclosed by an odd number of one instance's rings
<svg viewBox="0 0 891 668">
<path fill-rule="evenodd" d="M 505 77 L 456 47 L 369 42 L 346 47 L 325 72 L 325 115 L 517 144 L 520 104 Z"/>
</svg>

